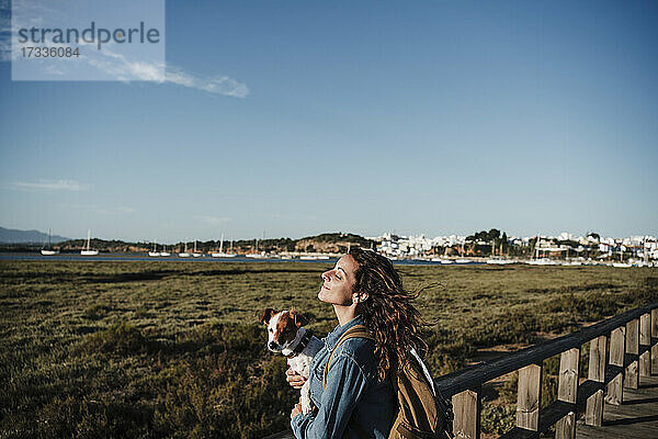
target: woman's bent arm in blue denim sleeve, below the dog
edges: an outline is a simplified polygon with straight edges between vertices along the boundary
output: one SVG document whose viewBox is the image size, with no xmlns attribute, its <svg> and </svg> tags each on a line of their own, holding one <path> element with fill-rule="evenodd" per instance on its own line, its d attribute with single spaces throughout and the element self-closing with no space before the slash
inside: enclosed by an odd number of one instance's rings
<svg viewBox="0 0 658 439">
<path fill-rule="evenodd" d="M 327 387 L 317 415 L 297 415 L 291 419 L 297 439 L 340 439 L 356 403 L 367 386 L 367 375 L 348 353 L 331 361 Z"/>
</svg>

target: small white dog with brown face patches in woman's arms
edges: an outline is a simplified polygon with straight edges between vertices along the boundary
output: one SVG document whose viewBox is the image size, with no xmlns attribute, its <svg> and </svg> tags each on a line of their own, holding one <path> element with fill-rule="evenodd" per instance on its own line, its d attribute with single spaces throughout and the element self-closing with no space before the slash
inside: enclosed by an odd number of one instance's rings
<svg viewBox="0 0 658 439">
<path fill-rule="evenodd" d="M 322 341 L 302 327 L 303 317 L 295 309 L 277 312 L 266 308 L 260 323 L 268 325 L 268 349 L 287 358 L 292 370 L 306 379 L 302 386 L 302 413 L 313 410 L 308 374 L 313 357 L 322 348 Z"/>
</svg>

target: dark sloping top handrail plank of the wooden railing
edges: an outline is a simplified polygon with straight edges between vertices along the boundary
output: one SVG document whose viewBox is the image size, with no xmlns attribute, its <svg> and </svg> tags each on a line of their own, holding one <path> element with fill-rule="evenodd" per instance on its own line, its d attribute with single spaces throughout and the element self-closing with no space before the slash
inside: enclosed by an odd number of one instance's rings
<svg viewBox="0 0 658 439">
<path fill-rule="evenodd" d="M 625 325 L 634 318 L 639 318 L 640 315 L 646 314 L 654 308 L 658 309 L 658 303 L 628 311 L 616 317 L 580 329 L 574 334 L 511 352 L 496 361 L 475 364 L 449 373 L 447 375 L 440 376 L 435 380 L 436 386 L 445 396 L 452 396 L 467 389 L 476 389 L 481 383 L 491 381 L 525 365 L 540 363 L 546 358 L 561 353 L 567 349 L 577 348 L 593 338 L 610 334 L 613 329 Z M 656 316 L 658 319 L 658 313 Z M 658 371 L 658 362 L 656 369 Z"/>
</svg>

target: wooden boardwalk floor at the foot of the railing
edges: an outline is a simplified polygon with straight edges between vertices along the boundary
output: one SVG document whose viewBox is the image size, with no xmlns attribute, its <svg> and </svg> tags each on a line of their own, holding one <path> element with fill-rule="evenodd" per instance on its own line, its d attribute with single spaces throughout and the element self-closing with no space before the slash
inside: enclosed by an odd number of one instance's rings
<svg viewBox="0 0 658 439">
<path fill-rule="evenodd" d="M 590 427 L 578 421 L 577 439 L 658 439 L 658 376 L 639 378 L 639 389 L 624 389 L 622 405 L 605 404 L 603 425 Z"/>
</svg>

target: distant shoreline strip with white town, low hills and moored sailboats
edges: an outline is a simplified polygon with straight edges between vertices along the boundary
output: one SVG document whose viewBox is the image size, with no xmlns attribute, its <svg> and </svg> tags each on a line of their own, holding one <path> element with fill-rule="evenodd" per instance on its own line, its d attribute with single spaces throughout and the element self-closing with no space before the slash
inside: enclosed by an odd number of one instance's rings
<svg viewBox="0 0 658 439">
<path fill-rule="evenodd" d="M 2 229 L 14 239 L 21 230 Z M 9 234 L 11 232 L 11 234 Z M 25 232 L 27 233 L 27 232 Z M 37 230 L 29 232 L 31 241 L 7 241 L 0 236 L 2 251 L 39 251 L 44 256 L 80 254 L 144 254 L 149 257 L 235 258 L 256 259 L 328 259 L 338 257 L 358 246 L 375 250 L 393 260 L 418 260 L 439 263 L 519 263 L 531 264 L 612 264 L 615 267 L 658 266 L 658 240 L 654 236 L 604 237 L 598 233 L 576 236 L 508 236 L 497 228 L 473 235 L 449 235 L 433 238 L 424 235 L 385 233 L 363 237 L 350 233 L 327 233 L 299 239 L 254 238 L 231 240 L 222 236 L 217 240 L 188 240 L 172 245 L 156 240 L 127 243 L 93 238 L 53 237 Z M 35 235 L 37 234 L 37 235 Z M 35 238 L 36 237 L 36 238 Z"/>
</svg>

